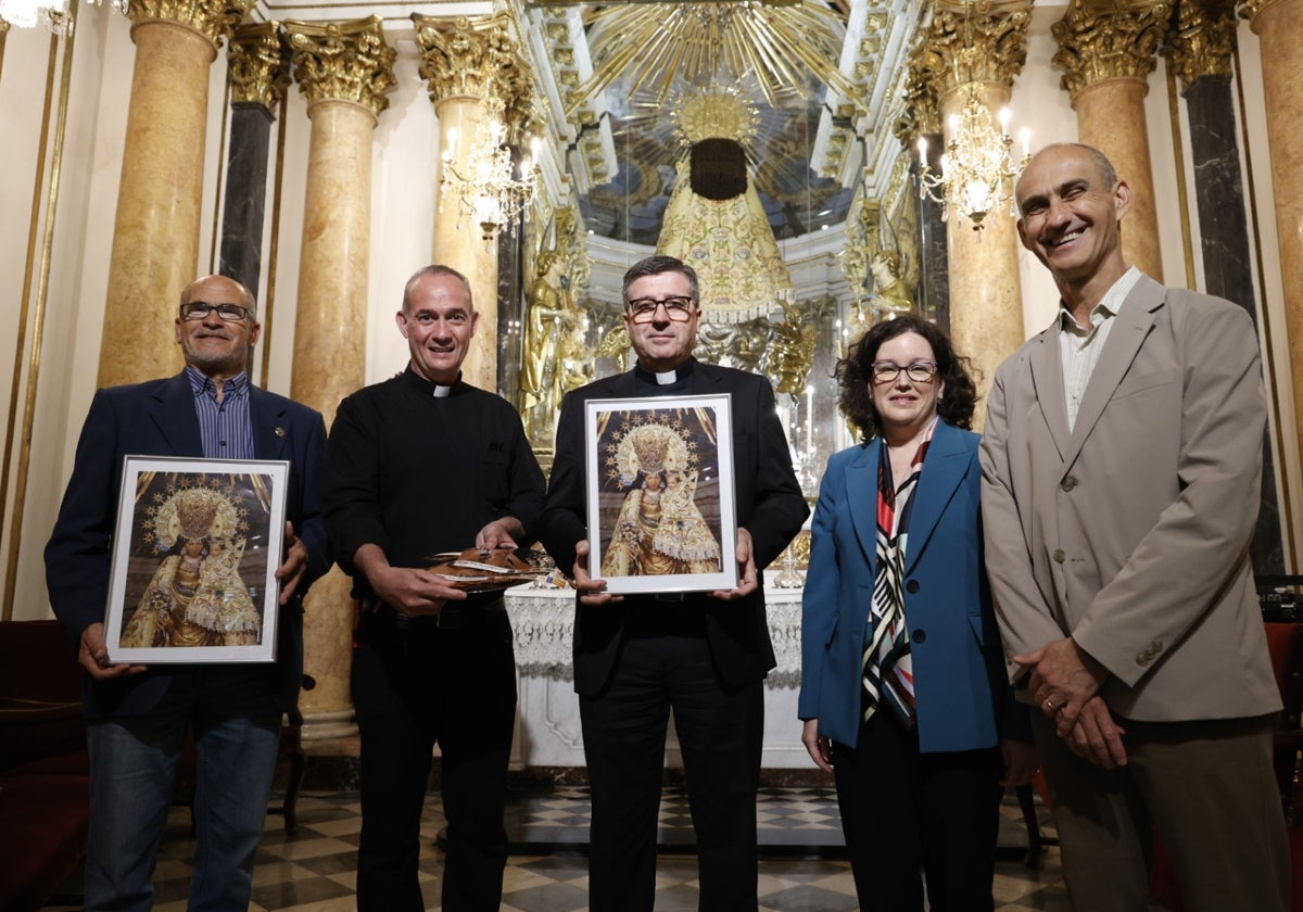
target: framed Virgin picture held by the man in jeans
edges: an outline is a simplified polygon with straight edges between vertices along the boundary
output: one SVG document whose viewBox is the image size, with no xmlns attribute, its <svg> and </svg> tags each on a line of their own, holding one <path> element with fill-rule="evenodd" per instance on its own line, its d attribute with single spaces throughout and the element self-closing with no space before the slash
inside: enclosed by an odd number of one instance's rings
<svg viewBox="0 0 1303 912">
<path fill-rule="evenodd" d="M 104 641 L 113 662 L 272 662 L 289 463 L 126 456 Z"/>
</svg>

